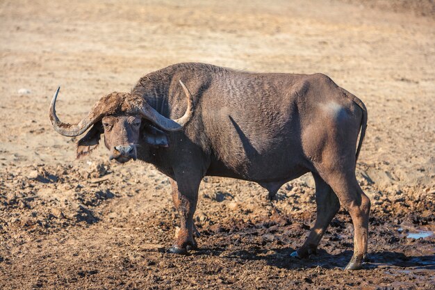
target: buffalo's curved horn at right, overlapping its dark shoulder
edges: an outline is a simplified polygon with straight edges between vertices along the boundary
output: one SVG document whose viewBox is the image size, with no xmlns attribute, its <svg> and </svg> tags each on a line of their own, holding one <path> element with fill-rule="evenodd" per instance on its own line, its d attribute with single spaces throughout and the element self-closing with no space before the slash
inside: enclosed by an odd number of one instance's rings
<svg viewBox="0 0 435 290">
<path fill-rule="evenodd" d="M 161 129 L 165 131 L 179 131 L 183 129 L 184 126 L 192 119 L 193 116 L 193 99 L 192 95 L 190 94 L 188 88 L 184 86 L 184 83 L 180 80 L 181 87 L 184 90 L 184 93 L 187 97 L 188 107 L 186 108 L 186 112 L 184 113 L 183 117 L 179 119 L 169 119 L 165 116 L 161 115 L 151 106 L 147 106 L 146 108 L 142 108 L 142 111 L 140 112 L 144 118 L 150 120 L 151 122 L 154 122 L 158 127 L 161 127 Z"/>
</svg>

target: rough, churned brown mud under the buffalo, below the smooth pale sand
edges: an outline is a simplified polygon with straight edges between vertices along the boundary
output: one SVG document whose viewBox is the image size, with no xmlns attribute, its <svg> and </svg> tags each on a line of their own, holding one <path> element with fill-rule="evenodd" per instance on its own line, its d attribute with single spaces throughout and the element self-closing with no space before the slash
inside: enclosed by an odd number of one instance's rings
<svg viewBox="0 0 435 290">
<path fill-rule="evenodd" d="M 0 275 L 13 278 L 3 280 L 6 288 L 433 286 L 434 204 L 422 198 L 425 193 L 385 198 L 363 186 L 375 201 L 370 250 L 364 270 L 347 272 L 341 268 L 352 256 L 353 229 L 345 211 L 334 218 L 317 255 L 290 258 L 315 218 L 309 178 L 286 184 L 271 205 L 256 184 L 207 177 L 195 217 L 200 248 L 180 257 L 166 253 L 177 212 L 165 177 L 147 165 L 126 175 L 116 172 L 127 166 L 87 166 L 40 164 L 1 172 L 6 196 L 0 198 Z M 420 229 L 431 235 L 410 237 Z"/>
</svg>

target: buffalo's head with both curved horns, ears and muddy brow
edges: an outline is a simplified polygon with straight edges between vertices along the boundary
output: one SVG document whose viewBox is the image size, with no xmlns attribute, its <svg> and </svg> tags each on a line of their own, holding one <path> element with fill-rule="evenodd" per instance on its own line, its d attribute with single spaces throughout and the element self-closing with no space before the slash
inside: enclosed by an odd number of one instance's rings
<svg viewBox="0 0 435 290">
<path fill-rule="evenodd" d="M 126 92 L 112 92 L 92 107 L 90 113 L 76 124 L 61 122 L 56 115 L 56 99 L 60 88 L 51 100 L 50 120 L 54 129 L 63 136 L 79 136 L 90 128 L 77 143 L 77 158 L 90 154 L 99 145 L 104 134 L 104 144 L 110 151 L 110 160 L 121 163 L 136 160 L 140 143 L 167 146 L 165 132 L 179 131 L 190 121 L 193 114 L 192 95 L 180 81 L 187 97 L 187 109 L 176 120 L 166 118 L 149 106 L 139 95 Z"/>
</svg>

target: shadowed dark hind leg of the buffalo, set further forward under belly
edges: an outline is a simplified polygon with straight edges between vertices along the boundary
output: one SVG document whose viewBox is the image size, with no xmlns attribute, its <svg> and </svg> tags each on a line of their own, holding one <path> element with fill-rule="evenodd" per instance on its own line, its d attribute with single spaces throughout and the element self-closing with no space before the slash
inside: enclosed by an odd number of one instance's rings
<svg viewBox="0 0 435 290">
<path fill-rule="evenodd" d="M 340 209 L 340 202 L 331 187 L 316 173 L 313 173 L 315 181 L 315 203 L 317 204 L 317 217 L 314 227 L 299 250 L 292 253 L 292 257 L 305 258 L 317 251 L 320 239 L 325 234 L 331 220 Z"/>
</svg>

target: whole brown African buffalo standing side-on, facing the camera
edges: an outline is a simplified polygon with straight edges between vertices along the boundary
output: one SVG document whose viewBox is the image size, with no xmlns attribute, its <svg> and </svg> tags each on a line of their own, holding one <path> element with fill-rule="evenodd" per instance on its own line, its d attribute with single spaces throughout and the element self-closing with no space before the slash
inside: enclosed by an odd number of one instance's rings
<svg viewBox="0 0 435 290">
<path fill-rule="evenodd" d="M 181 216 L 172 252 L 197 247 L 192 218 L 204 176 L 257 182 L 273 197 L 286 182 L 311 172 L 317 218 L 292 256 L 315 252 L 342 204 L 354 225 L 354 255 L 346 268 L 361 268 L 370 200 L 356 181 L 355 166 L 367 111 L 328 76 L 179 63 L 142 77 L 131 92 L 102 97 L 77 124 L 57 118 L 58 91 L 49 113 L 54 129 L 79 136 L 90 128 L 77 143 L 78 157 L 92 152 L 104 134 L 110 159 L 140 159 L 170 177 Z"/>
</svg>

